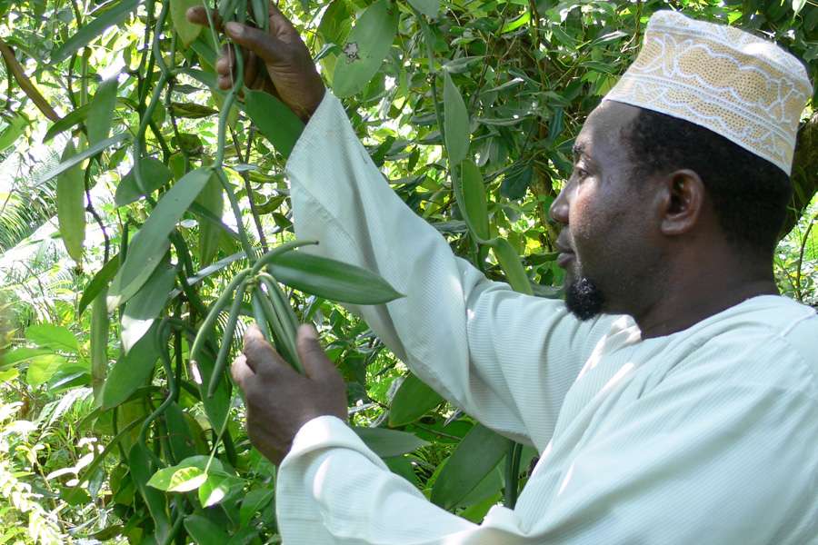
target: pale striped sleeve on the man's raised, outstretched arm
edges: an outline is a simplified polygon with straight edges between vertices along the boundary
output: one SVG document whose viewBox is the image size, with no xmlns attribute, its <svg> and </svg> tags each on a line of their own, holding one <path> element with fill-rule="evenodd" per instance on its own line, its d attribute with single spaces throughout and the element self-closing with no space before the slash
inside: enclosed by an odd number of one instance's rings
<svg viewBox="0 0 818 545">
<path fill-rule="evenodd" d="M 327 91 L 289 162 L 309 251 L 377 272 L 406 297 L 354 307 L 414 373 L 494 429 L 542 450 L 565 392 L 611 319 L 513 292 L 454 256 L 389 187 Z"/>
</svg>

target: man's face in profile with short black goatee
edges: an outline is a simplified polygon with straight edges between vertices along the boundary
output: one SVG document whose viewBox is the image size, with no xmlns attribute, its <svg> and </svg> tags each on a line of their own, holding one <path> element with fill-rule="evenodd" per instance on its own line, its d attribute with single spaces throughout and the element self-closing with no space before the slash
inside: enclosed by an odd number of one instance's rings
<svg viewBox="0 0 818 545">
<path fill-rule="evenodd" d="M 588 116 L 574 144 L 574 172 L 551 206 L 564 225 L 557 247 L 565 302 L 582 320 L 634 314 L 648 299 L 645 281 L 661 267 L 653 195 L 646 181 L 633 179 L 627 142 L 638 113 L 604 102 Z"/>
</svg>

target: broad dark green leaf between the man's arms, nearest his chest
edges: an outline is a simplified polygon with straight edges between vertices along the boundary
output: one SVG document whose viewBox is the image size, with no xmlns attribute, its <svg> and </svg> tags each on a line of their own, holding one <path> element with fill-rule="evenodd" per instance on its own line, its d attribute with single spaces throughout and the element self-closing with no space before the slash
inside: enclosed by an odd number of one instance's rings
<svg viewBox="0 0 818 545">
<path fill-rule="evenodd" d="M 509 440 L 481 424 L 475 424 L 434 481 L 432 502 L 444 509 L 460 505 L 503 459 L 508 445 Z"/>
</svg>

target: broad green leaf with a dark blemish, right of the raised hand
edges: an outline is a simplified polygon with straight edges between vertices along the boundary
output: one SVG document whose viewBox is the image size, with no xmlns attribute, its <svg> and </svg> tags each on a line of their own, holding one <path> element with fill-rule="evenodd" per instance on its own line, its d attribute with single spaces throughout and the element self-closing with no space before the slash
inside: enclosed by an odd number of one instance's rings
<svg viewBox="0 0 818 545">
<path fill-rule="evenodd" d="M 389 0 L 369 5 L 346 37 L 333 74 L 338 97 L 363 90 L 384 63 L 397 33 L 398 9 Z"/>
</svg>

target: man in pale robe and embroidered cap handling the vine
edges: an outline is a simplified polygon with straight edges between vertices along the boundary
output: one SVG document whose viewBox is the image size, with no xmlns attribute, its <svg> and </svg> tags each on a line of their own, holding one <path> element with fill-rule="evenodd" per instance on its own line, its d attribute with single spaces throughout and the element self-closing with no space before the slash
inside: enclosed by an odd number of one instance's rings
<svg viewBox="0 0 818 545">
<path fill-rule="evenodd" d="M 653 15 L 551 208 L 563 303 L 456 258 L 384 182 L 293 26 L 274 12 L 271 28 L 226 32 L 311 116 L 287 165 L 296 233 L 404 292 L 357 311 L 447 399 L 541 454 L 514 510 L 458 518 L 346 426 L 311 328 L 298 341 L 308 377 L 251 330 L 233 374 L 254 444 L 284 458 L 285 543 L 818 543 L 818 316 L 772 274 L 812 94 L 797 60 Z M 224 86 L 229 70 L 220 62 Z"/>
</svg>

